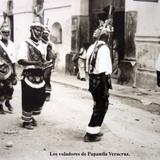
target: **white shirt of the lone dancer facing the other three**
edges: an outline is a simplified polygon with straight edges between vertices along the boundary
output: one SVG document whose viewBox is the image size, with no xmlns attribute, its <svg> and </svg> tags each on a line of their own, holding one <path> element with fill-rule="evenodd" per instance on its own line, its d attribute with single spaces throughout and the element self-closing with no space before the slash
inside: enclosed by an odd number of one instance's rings
<svg viewBox="0 0 160 160">
<path fill-rule="evenodd" d="M 94 50 L 95 44 L 96 42 L 92 44 L 87 50 L 87 67 L 88 67 L 89 57 Z M 97 45 L 99 44 L 105 44 L 105 42 L 99 40 Z M 100 74 L 103 72 L 105 72 L 106 75 L 112 73 L 111 55 L 110 55 L 110 50 L 107 47 L 107 45 L 102 45 L 98 50 L 93 74 Z"/>
</svg>

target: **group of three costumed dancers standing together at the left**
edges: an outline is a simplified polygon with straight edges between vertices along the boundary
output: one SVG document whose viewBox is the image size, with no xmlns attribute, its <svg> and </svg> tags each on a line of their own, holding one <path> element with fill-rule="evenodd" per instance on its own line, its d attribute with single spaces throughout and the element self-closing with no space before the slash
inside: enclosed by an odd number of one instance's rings
<svg viewBox="0 0 160 160">
<path fill-rule="evenodd" d="M 23 66 L 22 88 L 22 126 L 34 129 L 37 126 L 35 115 L 41 113 L 45 101 L 49 101 L 50 77 L 56 59 L 54 44 L 49 41 L 50 31 L 38 19 L 30 26 L 30 37 L 23 42 L 18 52 L 9 40 L 10 28 L 6 21 L 0 28 L 0 113 L 5 114 L 3 104 L 10 112 L 9 103 L 16 85 L 15 63 Z M 18 53 L 18 55 L 16 55 Z"/>
</svg>

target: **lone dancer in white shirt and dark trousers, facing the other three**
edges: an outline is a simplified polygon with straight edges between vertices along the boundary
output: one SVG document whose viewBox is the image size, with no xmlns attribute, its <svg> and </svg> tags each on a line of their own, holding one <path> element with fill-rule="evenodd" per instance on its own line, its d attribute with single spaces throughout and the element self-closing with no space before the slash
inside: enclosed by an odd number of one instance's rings
<svg viewBox="0 0 160 160">
<path fill-rule="evenodd" d="M 105 43 L 108 39 L 108 32 L 101 29 L 95 30 L 93 37 L 97 40 L 87 51 L 87 64 L 89 73 L 89 91 L 94 100 L 93 113 L 88 124 L 85 142 L 100 141 L 103 135 L 100 127 L 108 110 L 109 83 L 112 73 L 112 62 L 110 50 Z"/>
</svg>

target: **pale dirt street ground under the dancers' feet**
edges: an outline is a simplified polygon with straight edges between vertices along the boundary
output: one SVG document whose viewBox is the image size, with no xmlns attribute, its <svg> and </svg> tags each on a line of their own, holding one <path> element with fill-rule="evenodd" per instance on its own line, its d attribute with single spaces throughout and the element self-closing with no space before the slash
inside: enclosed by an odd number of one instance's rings
<svg viewBox="0 0 160 160">
<path fill-rule="evenodd" d="M 0 115 L 0 160 L 160 159 L 159 115 L 110 97 L 102 141 L 85 143 L 83 136 L 92 111 L 90 94 L 52 85 L 52 99 L 45 103 L 32 131 L 21 127 L 20 83 L 15 87 L 14 114 L 5 108 L 6 114 Z"/>
</svg>

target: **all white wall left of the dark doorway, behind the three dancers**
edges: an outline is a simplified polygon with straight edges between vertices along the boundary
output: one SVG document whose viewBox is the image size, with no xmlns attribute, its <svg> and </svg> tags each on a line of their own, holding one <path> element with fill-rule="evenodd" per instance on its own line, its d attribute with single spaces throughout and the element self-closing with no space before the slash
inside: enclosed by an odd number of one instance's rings
<svg viewBox="0 0 160 160">
<path fill-rule="evenodd" d="M 13 2 L 14 39 L 18 49 L 30 35 L 29 26 L 33 20 L 33 0 L 13 0 Z M 0 23 L 2 10 L 5 9 L 6 4 L 7 0 L 0 0 Z M 49 18 L 50 28 L 55 22 L 59 22 L 62 26 L 62 44 L 56 44 L 59 52 L 58 69 L 62 71 L 65 70 L 66 54 L 71 51 L 71 19 L 73 15 L 88 15 L 88 0 L 44 0 L 44 21 L 46 22 Z"/>
</svg>

